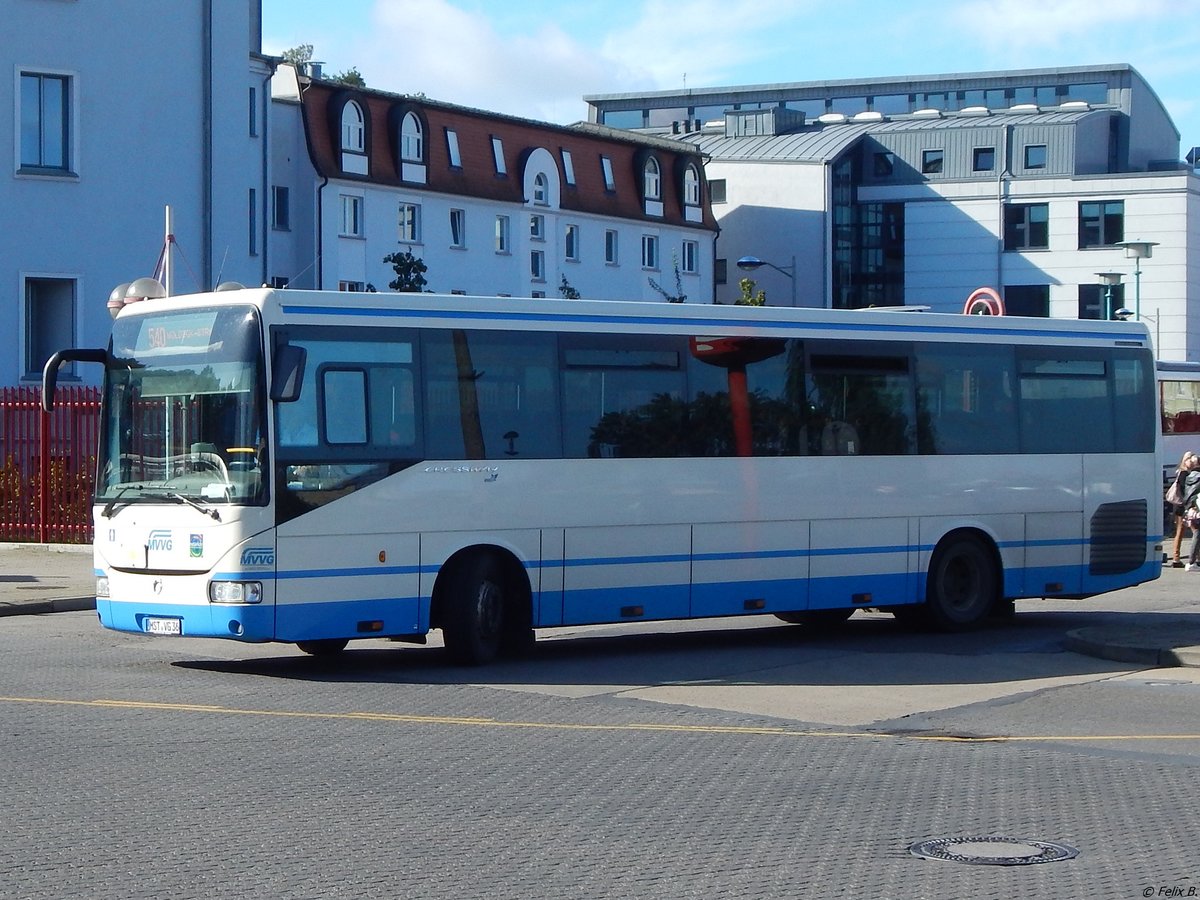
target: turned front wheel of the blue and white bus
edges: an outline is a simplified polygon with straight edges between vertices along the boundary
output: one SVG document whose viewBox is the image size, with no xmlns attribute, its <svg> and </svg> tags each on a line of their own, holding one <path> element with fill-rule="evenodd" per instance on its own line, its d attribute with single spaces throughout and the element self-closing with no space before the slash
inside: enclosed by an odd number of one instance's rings
<svg viewBox="0 0 1200 900">
<path fill-rule="evenodd" d="M 442 601 L 442 638 L 450 660 L 464 666 L 494 660 L 509 616 L 504 571 L 496 556 L 473 553 L 455 563 Z"/>
</svg>

